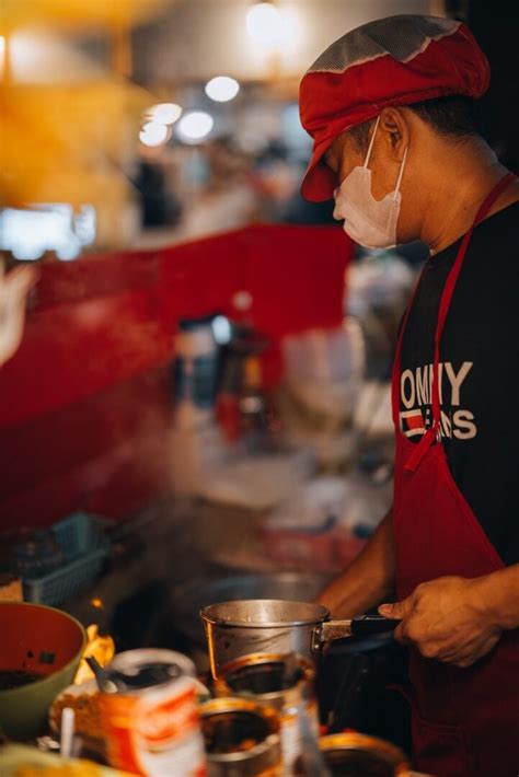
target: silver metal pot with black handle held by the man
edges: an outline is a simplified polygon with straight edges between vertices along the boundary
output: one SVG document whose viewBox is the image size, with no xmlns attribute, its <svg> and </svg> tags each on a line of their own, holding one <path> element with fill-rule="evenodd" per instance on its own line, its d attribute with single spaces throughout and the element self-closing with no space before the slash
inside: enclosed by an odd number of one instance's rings
<svg viewBox="0 0 519 777">
<path fill-rule="evenodd" d="M 381 615 L 331 621 L 330 611 L 321 604 L 277 599 L 210 604 L 200 617 L 215 679 L 241 656 L 293 652 L 315 660 L 325 642 L 392 631 L 400 623 Z"/>
</svg>

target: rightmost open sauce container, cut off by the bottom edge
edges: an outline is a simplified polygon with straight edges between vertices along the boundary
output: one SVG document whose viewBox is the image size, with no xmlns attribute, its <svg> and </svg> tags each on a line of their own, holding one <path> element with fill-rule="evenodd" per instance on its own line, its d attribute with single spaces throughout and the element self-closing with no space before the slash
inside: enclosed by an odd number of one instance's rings
<svg viewBox="0 0 519 777">
<path fill-rule="evenodd" d="M 319 749 L 330 777 L 404 777 L 410 775 L 407 759 L 399 747 L 384 740 L 348 732 L 322 737 Z M 301 762 L 295 777 L 307 775 Z"/>
</svg>

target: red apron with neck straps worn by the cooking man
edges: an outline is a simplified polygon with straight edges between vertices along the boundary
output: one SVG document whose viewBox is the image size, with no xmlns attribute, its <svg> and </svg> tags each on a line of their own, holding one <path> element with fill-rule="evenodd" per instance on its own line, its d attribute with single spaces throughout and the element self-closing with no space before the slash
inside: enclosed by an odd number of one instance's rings
<svg viewBox="0 0 519 777">
<path fill-rule="evenodd" d="M 508 174 L 491 192 L 474 225 L 514 177 Z M 400 424 L 402 338 L 413 300 L 396 349 L 392 402 L 399 600 L 427 580 L 446 575 L 475 578 L 505 566 L 452 478 L 440 434 L 440 340 L 474 225 L 462 241 L 442 292 L 435 337 L 432 426 L 418 444 L 410 442 Z M 412 649 L 410 674 L 418 769 L 439 777 L 519 775 L 519 629 L 505 631 L 496 648 L 469 669 L 424 659 Z"/>
</svg>

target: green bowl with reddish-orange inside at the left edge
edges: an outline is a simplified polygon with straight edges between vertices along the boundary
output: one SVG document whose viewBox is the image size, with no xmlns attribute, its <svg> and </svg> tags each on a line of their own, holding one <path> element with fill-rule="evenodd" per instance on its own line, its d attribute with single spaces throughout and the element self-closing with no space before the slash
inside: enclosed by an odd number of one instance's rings
<svg viewBox="0 0 519 777">
<path fill-rule="evenodd" d="M 41 732 L 54 698 L 72 682 L 85 643 L 81 624 L 60 610 L 0 602 L 0 728 L 4 734 L 30 739 Z"/>
</svg>

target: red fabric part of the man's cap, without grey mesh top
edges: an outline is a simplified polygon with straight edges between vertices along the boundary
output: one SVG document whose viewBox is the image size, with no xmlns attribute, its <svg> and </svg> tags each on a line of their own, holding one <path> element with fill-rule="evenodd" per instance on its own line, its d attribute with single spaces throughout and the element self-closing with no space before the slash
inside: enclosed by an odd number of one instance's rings
<svg viewBox="0 0 519 777">
<path fill-rule="evenodd" d="M 310 70 L 301 81 L 299 105 L 301 124 L 314 143 L 301 194 L 312 201 L 333 197 L 337 181 L 323 155 L 342 132 L 382 108 L 448 94 L 481 97 L 488 84 L 488 61 L 464 24 L 405 62 L 388 54 L 344 72 Z"/>
</svg>

